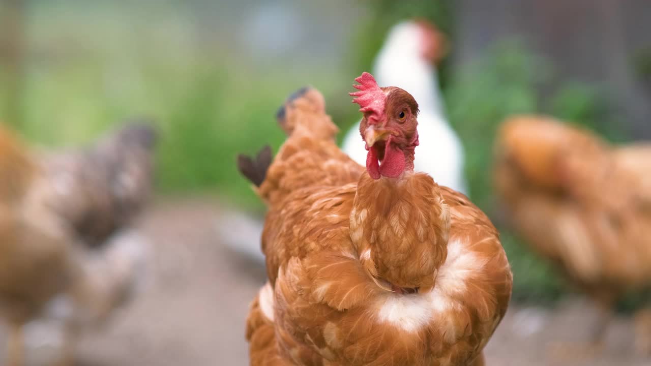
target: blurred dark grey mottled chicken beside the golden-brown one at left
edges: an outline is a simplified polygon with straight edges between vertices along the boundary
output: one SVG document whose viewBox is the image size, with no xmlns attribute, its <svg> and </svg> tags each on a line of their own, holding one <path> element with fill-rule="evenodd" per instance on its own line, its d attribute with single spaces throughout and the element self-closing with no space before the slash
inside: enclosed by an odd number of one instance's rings
<svg viewBox="0 0 651 366">
<path fill-rule="evenodd" d="M 43 154 L 42 162 L 59 200 L 59 212 L 88 246 L 98 246 L 130 225 L 152 185 L 156 132 L 128 124 L 84 150 Z"/>
</svg>

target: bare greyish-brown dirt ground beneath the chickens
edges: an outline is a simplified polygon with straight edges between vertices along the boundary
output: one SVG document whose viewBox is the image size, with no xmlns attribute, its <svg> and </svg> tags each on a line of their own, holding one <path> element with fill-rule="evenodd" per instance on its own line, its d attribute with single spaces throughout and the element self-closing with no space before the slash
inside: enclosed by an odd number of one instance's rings
<svg viewBox="0 0 651 366">
<path fill-rule="evenodd" d="M 247 365 L 248 305 L 265 281 L 263 268 L 221 246 L 217 203 L 158 203 L 142 227 L 154 243 L 145 290 L 102 331 L 77 346 L 79 366 Z M 616 318 L 597 358 L 549 352 L 557 341 L 579 341 L 594 312 L 581 300 L 557 309 L 512 305 L 486 348 L 488 365 L 642 366 L 633 352 L 630 320 Z M 0 336 L 0 339 L 4 337 Z"/>
</svg>

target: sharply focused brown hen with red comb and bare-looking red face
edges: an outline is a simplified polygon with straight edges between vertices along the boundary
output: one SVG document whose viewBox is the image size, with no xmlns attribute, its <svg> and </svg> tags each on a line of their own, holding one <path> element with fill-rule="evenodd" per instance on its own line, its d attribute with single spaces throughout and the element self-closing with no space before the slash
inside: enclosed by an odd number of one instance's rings
<svg viewBox="0 0 651 366">
<path fill-rule="evenodd" d="M 335 145 L 314 89 L 283 107 L 289 137 L 268 172 L 240 164 L 264 177 L 269 205 L 251 365 L 483 365 L 512 285 L 499 235 L 467 197 L 413 173 L 411 95 L 357 81 L 366 170 Z"/>
</svg>

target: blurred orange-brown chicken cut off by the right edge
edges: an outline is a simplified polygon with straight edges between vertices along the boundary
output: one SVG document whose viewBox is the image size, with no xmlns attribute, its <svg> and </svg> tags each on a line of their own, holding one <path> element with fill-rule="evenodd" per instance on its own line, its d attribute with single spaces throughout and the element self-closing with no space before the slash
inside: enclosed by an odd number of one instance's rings
<svg viewBox="0 0 651 366">
<path fill-rule="evenodd" d="M 613 147 L 525 115 L 506 120 L 495 151 L 495 187 L 514 229 L 600 307 L 585 345 L 598 350 L 615 302 L 651 285 L 651 145 Z"/>
</svg>

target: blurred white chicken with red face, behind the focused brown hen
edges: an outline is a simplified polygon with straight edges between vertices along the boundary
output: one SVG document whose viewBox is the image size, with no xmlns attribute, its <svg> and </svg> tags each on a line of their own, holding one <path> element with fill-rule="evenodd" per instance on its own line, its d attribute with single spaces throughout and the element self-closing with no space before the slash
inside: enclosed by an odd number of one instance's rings
<svg viewBox="0 0 651 366">
<path fill-rule="evenodd" d="M 436 62 L 447 52 L 445 36 L 424 21 L 395 25 L 373 65 L 378 85 L 408 91 L 419 104 L 420 145 L 414 170 L 431 175 L 443 186 L 467 193 L 464 178 L 464 149 L 445 118 L 438 87 Z M 342 149 L 355 162 L 365 165 L 367 151 L 361 143 L 359 122 L 344 137 Z"/>
</svg>

